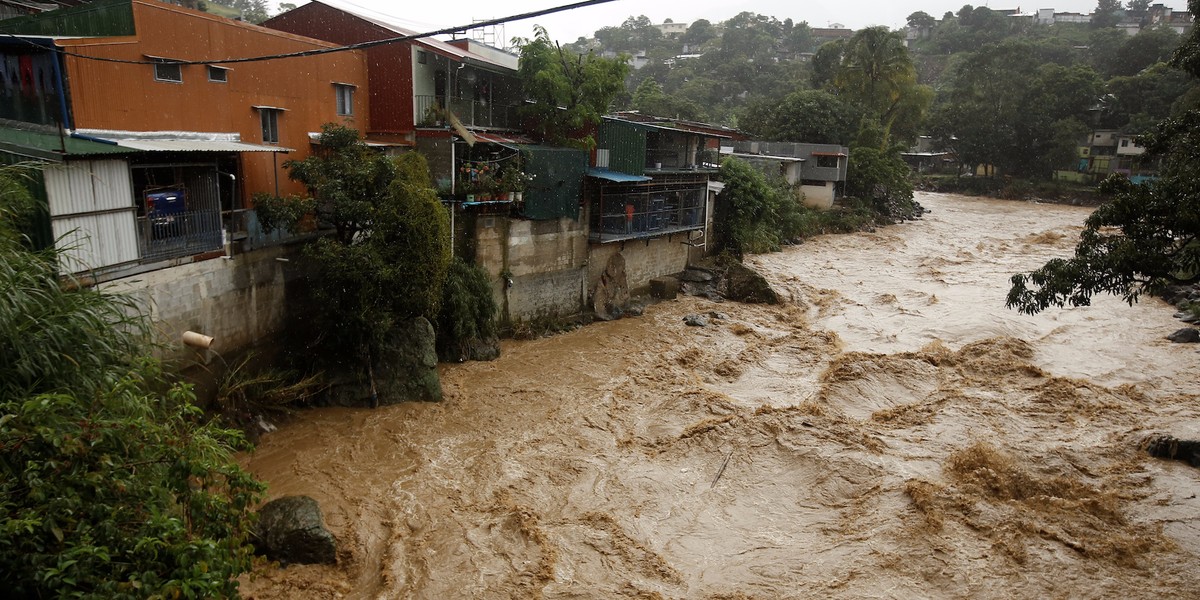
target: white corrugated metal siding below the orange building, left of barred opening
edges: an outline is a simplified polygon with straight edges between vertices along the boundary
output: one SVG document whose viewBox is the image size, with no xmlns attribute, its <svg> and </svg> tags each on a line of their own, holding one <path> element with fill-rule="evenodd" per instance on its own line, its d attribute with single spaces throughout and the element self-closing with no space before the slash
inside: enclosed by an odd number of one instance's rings
<svg viewBox="0 0 1200 600">
<path fill-rule="evenodd" d="M 71 271 L 138 259 L 137 209 L 125 161 L 76 161 L 44 172 L 50 227 Z"/>
</svg>

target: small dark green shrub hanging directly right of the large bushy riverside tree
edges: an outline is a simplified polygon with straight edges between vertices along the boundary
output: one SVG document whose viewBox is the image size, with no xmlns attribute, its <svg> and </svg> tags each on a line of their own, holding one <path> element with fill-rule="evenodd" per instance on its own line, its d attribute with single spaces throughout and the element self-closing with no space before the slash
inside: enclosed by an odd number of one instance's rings
<svg viewBox="0 0 1200 600">
<path fill-rule="evenodd" d="M 492 282 L 479 265 L 456 258 L 450 264 L 438 316 L 439 355 L 466 355 L 466 344 L 496 335 L 496 299 Z"/>
</svg>

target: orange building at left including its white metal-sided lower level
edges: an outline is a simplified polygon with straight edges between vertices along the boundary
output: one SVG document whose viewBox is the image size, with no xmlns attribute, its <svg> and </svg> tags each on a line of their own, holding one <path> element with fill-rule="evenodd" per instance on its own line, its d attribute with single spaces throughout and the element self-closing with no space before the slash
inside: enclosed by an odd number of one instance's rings
<svg viewBox="0 0 1200 600">
<path fill-rule="evenodd" d="M 44 236 L 72 233 L 90 269 L 264 241 L 251 197 L 306 193 L 283 163 L 312 154 L 322 124 L 367 128 L 362 52 L 235 60 L 330 42 L 155 0 L 98 0 L 0 32 L 0 152 L 58 163 L 43 169 Z"/>
</svg>

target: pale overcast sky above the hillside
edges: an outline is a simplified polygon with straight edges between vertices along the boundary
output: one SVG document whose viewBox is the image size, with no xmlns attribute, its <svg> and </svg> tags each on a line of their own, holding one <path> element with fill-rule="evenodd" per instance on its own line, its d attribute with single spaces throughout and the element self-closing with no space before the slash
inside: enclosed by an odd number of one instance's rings
<svg viewBox="0 0 1200 600">
<path fill-rule="evenodd" d="M 348 0 L 342 0 L 348 1 Z M 571 4 L 571 0 L 443 0 L 396 2 L 395 0 L 349 0 L 352 4 L 370 8 L 397 19 L 419 31 L 432 31 L 446 26 L 456 26 L 492 18 L 508 17 L 541 8 Z M 1186 0 L 1152 0 L 1151 4 L 1165 4 L 1177 11 L 1187 10 Z M 294 4 L 305 4 L 304 1 Z M 814 28 L 826 28 L 840 23 L 850 29 L 862 29 L 869 25 L 887 25 L 899 29 L 905 25 L 905 18 L 917 11 L 925 11 L 941 18 L 946 11 L 958 12 L 965 4 L 988 6 L 990 8 L 1020 8 L 1022 12 L 1036 12 L 1038 8 L 1054 8 L 1057 12 L 1091 12 L 1096 0 L 1039 0 L 1036 4 L 968 2 L 966 0 L 658 0 L 632 1 L 616 0 L 613 2 L 566 11 L 535 19 L 509 23 L 504 26 L 504 38 L 532 36 L 533 25 L 544 25 L 551 37 L 560 42 L 574 42 L 576 38 L 590 37 L 602 26 L 620 25 L 626 17 L 644 14 L 653 23 L 671 19 L 676 23 L 691 23 L 696 19 L 708 19 L 718 23 L 740 12 L 750 11 L 775 17 L 779 20 L 792 19 L 796 23 L 809 22 Z M 499 35 L 500 32 L 497 31 Z"/>
</svg>

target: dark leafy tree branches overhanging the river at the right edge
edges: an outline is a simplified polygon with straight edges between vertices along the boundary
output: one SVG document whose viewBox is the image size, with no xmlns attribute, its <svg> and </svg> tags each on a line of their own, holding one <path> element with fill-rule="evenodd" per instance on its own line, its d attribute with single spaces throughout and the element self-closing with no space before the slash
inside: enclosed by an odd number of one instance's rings
<svg viewBox="0 0 1200 600">
<path fill-rule="evenodd" d="M 1190 10 L 1200 14 L 1200 2 Z M 1171 64 L 1200 76 L 1200 31 L 1192 30 Z M 1112 199 L 1087 217 L 1074 256 L 1014 275 L 1010 308 L 1087 306 L 1102 293 L 1132 304 L 1168 284 L 1200 282 L 1200 110 L 1162 121 L 1140 143 L 1163 160 L 1158 179 L 1110 178 Z"/>
</svg>

